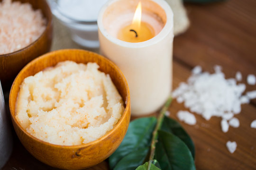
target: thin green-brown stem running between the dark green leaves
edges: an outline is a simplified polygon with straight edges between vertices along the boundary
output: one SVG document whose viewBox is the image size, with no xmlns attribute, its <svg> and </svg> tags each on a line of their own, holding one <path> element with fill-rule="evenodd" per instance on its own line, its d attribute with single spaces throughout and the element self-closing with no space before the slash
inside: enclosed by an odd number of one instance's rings
<svg viewBox="0 0 256 170">
<path fill-rule="evenodd" d="M 155 144 L 157 143 L 158 130 L 162 126 L 164 116 L 165 116 L 165 112 L 168 110 L 171 103 L 172 103 L 172 96 L 169 96 L 168 99 L 165 102 L 165 105 L 161 109 L 158 118 L 157 118 L 157 123 L 156 123 L 155 129 L 153 131 L 153 137 L 152 137 L 152 142 L 151 142 L 151 149 L 150 149 L 150 156 L 149 156 L 147 170 L 150 170 L 151 163 L 152 163 L 152 161 L 154 159 L 154 156 L 155 156 Z"/>
</svg>

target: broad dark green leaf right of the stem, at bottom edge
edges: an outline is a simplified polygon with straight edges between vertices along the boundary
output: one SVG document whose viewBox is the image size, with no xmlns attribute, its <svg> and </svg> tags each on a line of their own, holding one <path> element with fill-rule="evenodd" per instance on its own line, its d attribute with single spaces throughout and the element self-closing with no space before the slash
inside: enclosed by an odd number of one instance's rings
<svg viewBox="0 0 256 170">
<path fill-rule="evenodd" d="M 195 170 L 192 154 L 187 145 L 177 136 L 158 130 L 155 159 L 162 170 Z"/>
</svg>

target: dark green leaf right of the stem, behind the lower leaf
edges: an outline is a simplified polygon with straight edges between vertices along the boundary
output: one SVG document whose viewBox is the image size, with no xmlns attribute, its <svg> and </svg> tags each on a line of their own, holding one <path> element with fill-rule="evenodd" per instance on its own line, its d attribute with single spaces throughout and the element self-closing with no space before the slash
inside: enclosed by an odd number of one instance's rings
<svg viewBox="0 0 256 170">
<path fill-rule="evenodd" d="M 179 137 L 188 146 L 193 158 L 195 157 L 194 143 L 191 137 L 186 133 L 186 131 L 177 121 L 165 116 L 161 130 L 172 133 Z"/>
</svg>

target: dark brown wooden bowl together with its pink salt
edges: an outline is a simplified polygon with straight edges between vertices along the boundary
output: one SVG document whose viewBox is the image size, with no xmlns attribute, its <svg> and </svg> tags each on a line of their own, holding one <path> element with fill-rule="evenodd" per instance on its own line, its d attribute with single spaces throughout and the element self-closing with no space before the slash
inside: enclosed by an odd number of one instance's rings
<svg viewBox="0 0 256 170">
<path fill-rule="evenodd" d="M 9 90 L 29 61 L 50 51 L 52 13 L 46 0 L 0 0 L 0 28 L 0 80 Z"/>
</svg>

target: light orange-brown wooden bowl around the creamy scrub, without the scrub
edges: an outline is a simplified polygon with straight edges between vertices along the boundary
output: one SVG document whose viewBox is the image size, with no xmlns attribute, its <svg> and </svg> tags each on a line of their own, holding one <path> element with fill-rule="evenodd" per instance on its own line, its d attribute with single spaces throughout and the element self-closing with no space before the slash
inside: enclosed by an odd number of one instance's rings
<svg viewBox="0 0 256 170">
<path fill-rule="evenodd" d="M 117 125 L 100 139 L 88 144 L 63 146 L 44 142 L 27 133 L 15 118 L 15 103 L 19 86 L 27 76 L 35 75 L 58 62 L 73 60 L 77 63 L 96 62 L 100 70 L 109 74 L 125 102 L 125 110 Z M 84 50 L 59 50 L 49 52 L 27 64 L 15 78 L 10 94 L 9 108 L 12 124 L 19 140 L 27 151 L 50 166 L 77 170 L 88 168 L 108 158 L 119 146 L 128 129 L 130 120 L 130 95 L 128 84 L 119 68 L 103 56 Z"/>
</svg>

